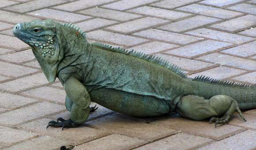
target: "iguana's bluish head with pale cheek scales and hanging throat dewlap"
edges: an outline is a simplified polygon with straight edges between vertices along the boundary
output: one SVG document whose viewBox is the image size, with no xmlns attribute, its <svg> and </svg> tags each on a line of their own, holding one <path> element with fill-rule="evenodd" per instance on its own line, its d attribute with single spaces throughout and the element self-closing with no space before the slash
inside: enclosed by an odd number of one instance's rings
<svg viewBox="0 0 256 150">
<path fill-rule="evenodd" d="M 49 82 L 56 79 L 57 67 L 63 58 L 60 49 L 60 23 L 52 20 L 19 23 L 13 34 L 28 44 Z"/>
</svg>

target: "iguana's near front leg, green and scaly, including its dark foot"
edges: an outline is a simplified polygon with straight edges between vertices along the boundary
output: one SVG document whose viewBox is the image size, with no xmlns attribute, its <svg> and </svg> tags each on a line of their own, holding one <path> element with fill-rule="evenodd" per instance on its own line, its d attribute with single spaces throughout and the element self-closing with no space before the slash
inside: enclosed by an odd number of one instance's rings
<svg viewBox="0 0 256 150">
<path fill-rule="evenodd" d="M 57 121 L 50 121 L 47 127 L 75 128 L 89 117 L 90 95 L 84 85 L 75 77 L 70 77 L 64 83 L 64 90 L 67 93 L 65 105 L 71 112 L 71 118 L 69 120 L 58 118 Z"/>
</svg>

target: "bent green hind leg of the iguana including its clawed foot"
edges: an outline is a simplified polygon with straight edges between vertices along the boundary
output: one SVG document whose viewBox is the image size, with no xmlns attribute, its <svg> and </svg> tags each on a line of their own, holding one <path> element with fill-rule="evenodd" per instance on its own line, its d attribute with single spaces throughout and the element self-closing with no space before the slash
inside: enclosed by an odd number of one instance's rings
<svg viewBox="0 0 256 150">
<path fill-rule="evenodd" d="M 176 111 L 181 116 L 194 120 L 211 118 L 210 123 L 215 122 L 215 127 L 217 124 L 227 123 L 236 111 L 245 120 L 237 101 L 227 95 L 216 95 L 211 99 L 196 95 L 183 96 L 177 103 Z M 219 116 L 221 117 L 218 118 Z"/>
</svg>

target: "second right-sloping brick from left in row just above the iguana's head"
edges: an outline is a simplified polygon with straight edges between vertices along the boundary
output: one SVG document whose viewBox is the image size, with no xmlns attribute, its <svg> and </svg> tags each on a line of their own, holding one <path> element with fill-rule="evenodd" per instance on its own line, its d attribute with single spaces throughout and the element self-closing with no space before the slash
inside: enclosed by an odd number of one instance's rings
<svg viewBox="0 0 256 150">
<path fill-rule="evenodd" d="M 104 9 L 99 7 L 94 7 L 84 11 L 79 11 L 79 13 L 84 15 L 92 15 L 95 17 L 102 17 L 105 19 L 112 19 L 116 21 L 128 21 L 134 18 L 142 17 L 141 15 L 121 12 L 121 11 L 114 11 L 114 10 L 109 10 L 109 9 Z"/>
</svg>

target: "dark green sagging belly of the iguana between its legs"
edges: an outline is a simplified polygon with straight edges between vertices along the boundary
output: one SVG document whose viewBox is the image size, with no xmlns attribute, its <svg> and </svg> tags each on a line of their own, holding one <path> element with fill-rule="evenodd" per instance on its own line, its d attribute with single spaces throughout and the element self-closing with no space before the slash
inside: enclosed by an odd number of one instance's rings
<svg viewBox="0 0 256 150">
<path fill-rule="evenodd" d="M 137 95 L 108 88 L 93 89 L 89 93 L 93 102 L 119 113 L 137 117 L 169 113 L 169 102 L 153 96 Z"/>
</svg>

